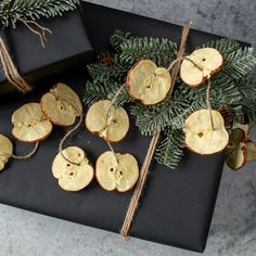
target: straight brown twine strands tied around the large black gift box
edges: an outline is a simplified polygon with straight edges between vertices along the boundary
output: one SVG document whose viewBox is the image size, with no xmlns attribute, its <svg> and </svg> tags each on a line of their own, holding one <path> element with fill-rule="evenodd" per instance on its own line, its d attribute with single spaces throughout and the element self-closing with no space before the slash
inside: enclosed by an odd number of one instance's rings
<svg viewBox="0 0 256 256">
<path fill-rule="evenodd" d="M 177 61 L 175 61 L 174 65 L 171 66 L 174 68 L 172 68 L 172 73 L 171 73 L 172 81 L 171 81 L 171 88 L 170 88 L 169 95 L 174 91 L 176 78 L 178 76 L 179 67 L 180 67 L 180 64 L 181 64 L 181 61 L 182 61 L 182 57 L 184 54 L 184 48 L 185 48 L 187 39 L 189 36 L 189 31 L 190 31 L 190 27 L 184 26 L 183 30 L 182 30 L 182 38 L 181 38 L 180 49 L 179 49 L 179 52 L 177 55 Z M 135 214 L 138 208 L 140 197 L 142 195 L 142 191 L 143 191 L 143 188 L 144 188 L 144 184 L 145 184 L 149 171 L 150 171 L 150 165 L 151 165 L 152 158 L 154 156 L 154 152 L 156 150 L 157 142 L 159 140 L 159 136 L 161 136 L 161 131 L 157 131 L 151 139 L 151 143 L 148 149 L 146 156 L 144 158 L 144 162 L 143 162 L 143 165 L 142 165 L 142 168 L 140 171 L 139 180 L 137 182 L 135 192 L 132 194 L 132 197 L 131 197 L 131 201 L 130 201 L 130 204 L 128 207 L 128 210 L 126 213 L 125 220 L 123 222 L 120 234 L 126 239 L 126 241 L 129 241 L 128 233 L 129 233 L 129 230 L 131 227 L 131 222 L 135 219 Z"/>
</svg>

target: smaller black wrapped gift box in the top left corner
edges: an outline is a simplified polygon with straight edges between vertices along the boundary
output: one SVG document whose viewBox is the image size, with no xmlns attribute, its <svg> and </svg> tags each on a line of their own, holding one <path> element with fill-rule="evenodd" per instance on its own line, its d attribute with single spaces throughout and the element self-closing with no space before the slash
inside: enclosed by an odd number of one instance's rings
<svg viewBox="0 0 256 256">
<path fill-rule="evenodd" d="M 40 20 L 38 23 L 52 31 L 52 35 L 48 34 L 44 48 L 39 37 L 21 22 L 16 29 L 1 31 L 16 67 L 28 84 L 39 87 L 59 74 L 92 61 L 94 54 L 82 16 L 82 10 L 78 8 L 61 17 Z M 3 72 L 0 73 L 0 88 L 1 100 L 16 92 L 15 87 L 7 81 Z"/>
</svg>

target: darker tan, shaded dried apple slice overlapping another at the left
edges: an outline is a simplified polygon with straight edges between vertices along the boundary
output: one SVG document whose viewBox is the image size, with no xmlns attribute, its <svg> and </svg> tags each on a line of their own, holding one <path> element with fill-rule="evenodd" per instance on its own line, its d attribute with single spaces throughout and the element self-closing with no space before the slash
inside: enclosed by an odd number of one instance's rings
<svg viewBox="0 0 256 256">
<path fill-rule="evenodd" d="M 57 126 L 72 126 L 82 113 L 79 97 L 68 86 L 59 82 L 41 98 L 41 108 Z"/>
</svg>

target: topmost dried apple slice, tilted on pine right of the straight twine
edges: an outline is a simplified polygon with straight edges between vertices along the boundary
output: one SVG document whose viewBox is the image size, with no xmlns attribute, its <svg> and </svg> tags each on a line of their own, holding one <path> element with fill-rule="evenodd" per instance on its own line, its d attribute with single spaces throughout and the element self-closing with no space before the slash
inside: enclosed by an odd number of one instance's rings
<svg viewBox="0 0 256 256">
<path fill-rule="evenodd" d="M 201 48 L 191 53 L 180 65 L 180 77 L 191 87 L 203 85 L 209 76 L 219 72 L 223 65 L 223 57 L 214 48 Z M 196 66 L 196 65 L 197 66 Z"/>
</svg>

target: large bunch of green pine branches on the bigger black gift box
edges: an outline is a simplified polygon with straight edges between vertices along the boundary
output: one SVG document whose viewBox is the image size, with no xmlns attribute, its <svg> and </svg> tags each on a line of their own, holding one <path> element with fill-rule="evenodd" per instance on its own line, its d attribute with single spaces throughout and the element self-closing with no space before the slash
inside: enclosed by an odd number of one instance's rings
<svg viewBox="0 0 256 256">
<path fill-rule="evenodd" d="M 88 67 L 92 81 L 86 87 L 85 102 L 91 104 L 101 99 L 112 100 L 118 88 L 121 93 L 116 104 L 130 102 L 124 88 L 126 76 L 130 67 L 141 59 L 150 59 L 158 66 L 167 67 L 176 59 L 177 46 L 167 39 L 138 38 L 130 34 L 117 31 L 111 38 L 115 53 L 111 66 L 92 64 Z M 220 39 L 205 43 L 203 47 L 213 47 L 223 56 L 223 68 L 210 78 L 210 103 L 214 110 L 228 106 L 233 121 L 242 121 L 247 115 L 251 121 L 256 121 L 256 79 L 252 78 L 252 68 L 256 64 L 251 48 L 241 48 L 235 40 Z M 175 168 L 182 155 L 184 137 L 182 127 L 185 118 L 194 111 L 206 108 L 207 84 L 191 88 L 179 78 L 176 80 L 174 93 L 163 102 L 144 106 L 140 102 L 131 102 L 130 112 L 136 116 L 136 125 L 144 136 L 153 136 L 162 131 L 163 140 L 159 142 L 155 158 L 159 164 Z"/>
</svg>

